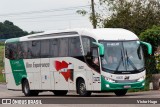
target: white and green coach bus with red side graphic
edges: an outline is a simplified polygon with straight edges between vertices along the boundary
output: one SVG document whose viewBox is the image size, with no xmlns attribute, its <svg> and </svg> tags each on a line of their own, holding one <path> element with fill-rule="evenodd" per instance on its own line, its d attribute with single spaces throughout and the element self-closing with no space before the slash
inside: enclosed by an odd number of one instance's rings
<svg viewBox="0 0 160 107">
<path fill-rule="evenodd" d="M 63 96 L 114 92 L 145 86 L 142 45 L 149 43 L 126 29 L 66 29 L 8 39 L 5 42 L 5 75 L 9 90 L 25 96 L 51 91 Z"/>
</svg>

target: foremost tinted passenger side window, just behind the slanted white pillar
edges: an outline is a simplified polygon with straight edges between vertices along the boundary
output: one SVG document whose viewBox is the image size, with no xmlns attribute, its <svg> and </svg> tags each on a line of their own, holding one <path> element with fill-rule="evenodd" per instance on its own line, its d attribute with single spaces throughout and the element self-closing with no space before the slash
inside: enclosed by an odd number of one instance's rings
<svg viewBox="0 0 160 107">
<path fill-rule="evenodd" d="M 79 37 L 69 38 L 69 55 L 82 56 Z"/>
</svg>

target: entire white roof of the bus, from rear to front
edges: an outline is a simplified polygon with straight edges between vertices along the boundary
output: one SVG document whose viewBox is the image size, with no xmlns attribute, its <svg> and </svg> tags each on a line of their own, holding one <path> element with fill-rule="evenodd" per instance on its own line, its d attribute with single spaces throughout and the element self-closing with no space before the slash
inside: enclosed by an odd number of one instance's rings
<svg viewBox="0 0 160 107">
<path fill-rule="evenodd" d="M 47 31 L 44 33 L 37 33 L 32 35 L 23 36 L 20 38 L 8 39 L 6 42 L 16 42 L 16 41 L 29 41 L 37 39 L 49 39 L 49 38 L 59 38 L 68 37 L 75 35 L 84 35 L 95 38 L 96 40 L 139 40 L 139 38 L 126 29 L 122 28 L 99 28 L 99 29 L 66 29 L 66 30 L 54 30 Z"/>
</svg>

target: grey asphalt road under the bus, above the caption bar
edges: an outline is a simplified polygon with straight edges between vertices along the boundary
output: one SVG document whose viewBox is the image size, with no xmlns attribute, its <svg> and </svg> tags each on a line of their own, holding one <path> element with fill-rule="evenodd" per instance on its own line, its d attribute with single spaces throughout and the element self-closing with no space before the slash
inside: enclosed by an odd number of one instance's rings
<svg viewBox="0 0 160 107">
<path fill-rule="evenodd" d="M 59 96 L 54 96 L 52 92 L 42 92 L 38 98 L 60 98 Z M 0 84 L 0 98 L 24 98 L 24 94 L 21 91 L 7 90 L 5 84 Z M 67 96 L 61 98 L 79 98 L 75 92 L 69 92 Z M 83 97 L 81 97 L 83 98 Z M 91 98 L 120 98 L 114 93 L 92 93 Z M 160 98 L 160 90 L 157 91 L 145 91 L 145 92 L 130 92 L 126 96 L 121 98 Z"/>
</svg>

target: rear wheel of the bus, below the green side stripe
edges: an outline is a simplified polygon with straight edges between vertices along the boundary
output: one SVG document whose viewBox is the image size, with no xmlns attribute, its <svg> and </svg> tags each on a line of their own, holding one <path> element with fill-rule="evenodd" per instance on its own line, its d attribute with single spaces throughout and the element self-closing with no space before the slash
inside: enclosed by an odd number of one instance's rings
<svg viewBox="0 0 160 107">
<path fill-rule="evenodd" d="M 23 80 L 22 82 L 22 92 L 25 96 L 37 96 L 39 94 L 38 91 L 30 90 L 30 86 L 27 79 Z"/>
</svg>

